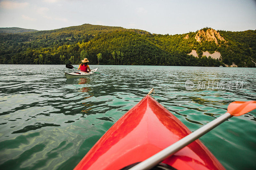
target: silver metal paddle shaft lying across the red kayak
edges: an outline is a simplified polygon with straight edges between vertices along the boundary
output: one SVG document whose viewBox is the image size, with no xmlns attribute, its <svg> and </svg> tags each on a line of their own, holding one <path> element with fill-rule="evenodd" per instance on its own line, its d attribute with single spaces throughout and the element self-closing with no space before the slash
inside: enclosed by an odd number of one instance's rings
<svg viewBox="0 0 256 170">
<path fill-rule="evenodd" d="M 217 119 L 211 121 L 210 123 L 207 123 L 206 125 L 197 129 L 193 133 L 190 133 L 188 136 L 183 137 L 182 139 L 172 144 L 171 146 L 165 148 L 164 150 L 156 153 L 155 155 L 149 157 L 148 159 L 133 166 L 132 168 L 130 168 L 130 170 L 142 170 L 142 169 L 146 170 L 146 169 L 153 168 L 165 158 L 171 156 L 175 152 L 179 151 L 180 149 L 184 148 L 188 144 L 192 143 L 193 141 L 203 136 L 205 133 L 209 132 L 210 130 L 212 130 L 222 122 L 226 121 L 230 117 L 232 117 L 232 115 L 226 112 L 224 115 L 221 115 Z"/>
</svg>

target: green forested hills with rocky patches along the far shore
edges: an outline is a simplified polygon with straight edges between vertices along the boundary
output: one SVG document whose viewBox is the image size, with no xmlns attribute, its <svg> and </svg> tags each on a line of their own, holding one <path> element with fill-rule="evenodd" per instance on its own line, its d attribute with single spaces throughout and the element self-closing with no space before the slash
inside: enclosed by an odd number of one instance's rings
<svg viewBox="0 0 256 170">
<path fill-rule="evenodd" d="M 203 28 L 176 35 L 84 24 L 48 31 L 0 33 L 2 64 L 90 64 L 255 67 L 256 30 Z M 191 55 L 188 55 L 191 54 Z"/>
</svg>

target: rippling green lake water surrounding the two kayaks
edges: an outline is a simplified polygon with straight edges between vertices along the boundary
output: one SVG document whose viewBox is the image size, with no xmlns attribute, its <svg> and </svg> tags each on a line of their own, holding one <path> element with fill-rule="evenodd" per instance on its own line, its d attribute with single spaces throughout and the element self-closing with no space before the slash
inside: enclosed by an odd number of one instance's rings
<svg viewBox="0 0 256 170">
<path fill-rule="evenodd" d="M 74 65 L 77 66 L 77 65 Z M 191 131 L 256 99 L 255 68 L 105 66 L 66 79 L 65 65 L 0 65 L 0 169 L 72 169 L 153 87 Z M 227 169 L 256 167 L 256 111 L 200 140 Z"/>
</svg>

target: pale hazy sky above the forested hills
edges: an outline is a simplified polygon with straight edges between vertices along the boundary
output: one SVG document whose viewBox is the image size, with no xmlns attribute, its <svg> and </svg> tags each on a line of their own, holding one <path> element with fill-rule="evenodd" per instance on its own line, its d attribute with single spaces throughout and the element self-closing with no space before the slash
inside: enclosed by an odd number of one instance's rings
<svg viewBox="0 0 256 170">
<path fill-rule="evenodd" d="M 52 30 L 82 24 L 156 34 L 204 27 L 256 29 L 256 0 L 0 0 L 0 27 Z"/>
</svg>

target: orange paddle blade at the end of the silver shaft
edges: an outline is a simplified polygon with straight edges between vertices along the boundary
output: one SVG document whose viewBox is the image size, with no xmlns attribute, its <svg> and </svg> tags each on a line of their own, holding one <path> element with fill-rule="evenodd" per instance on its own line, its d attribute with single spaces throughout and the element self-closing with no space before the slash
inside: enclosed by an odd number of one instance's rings
<svg viewBox="0 0 256 170">
<path fill-rule="evenodd" d="M 256 101 L 234 101 L 228 105 L 228 113 L 233 116 L 241 116 L 256 109 Z"/>
</svg>

